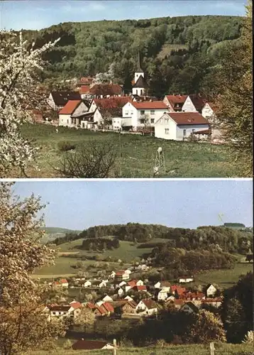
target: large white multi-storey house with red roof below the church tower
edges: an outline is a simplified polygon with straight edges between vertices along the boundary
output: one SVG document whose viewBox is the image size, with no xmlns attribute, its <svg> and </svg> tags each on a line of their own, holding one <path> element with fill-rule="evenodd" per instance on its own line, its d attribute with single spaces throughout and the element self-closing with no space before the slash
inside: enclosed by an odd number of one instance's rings
<svg viewBox="0 0 254 355">
<path fill-rule="evenodd" d="M 162 101 L 128 102 L 123 106 L 123 119 L 131 119 L 133 131 L 146 126 L 154 127 L 155 122 L 167 111 Z"/>
</svg>

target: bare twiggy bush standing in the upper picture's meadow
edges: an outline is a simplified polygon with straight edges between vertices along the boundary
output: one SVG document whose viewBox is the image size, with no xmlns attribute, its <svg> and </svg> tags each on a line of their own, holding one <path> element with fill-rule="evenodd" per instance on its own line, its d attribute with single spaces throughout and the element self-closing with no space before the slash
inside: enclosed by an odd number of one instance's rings
<svg viewBox="0 0 254 355">
<path fill-rule="evenodd" d="M 116 155 L 114 143 L 91 141 L 80 151 L 65 153 L 60 168 L 55 170 L 65 178 L 109 178 L 113 174 Z"/>
</svg>

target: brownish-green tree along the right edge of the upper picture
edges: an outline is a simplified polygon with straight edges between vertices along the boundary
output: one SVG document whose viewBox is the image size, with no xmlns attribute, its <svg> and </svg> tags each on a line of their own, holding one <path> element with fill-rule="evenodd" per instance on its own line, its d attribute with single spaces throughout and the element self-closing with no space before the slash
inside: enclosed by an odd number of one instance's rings
<svg viewBox="0 0 254 355">
<path fill-rule="evenodd" d="M 248 0 L 238 45 L 225 51 L 217 80 L 221 92 L 216 116 L 232 148 L 241 175 L 252 175 L 253 165 L 253 27 L 252 1 Z"/>
</svg>

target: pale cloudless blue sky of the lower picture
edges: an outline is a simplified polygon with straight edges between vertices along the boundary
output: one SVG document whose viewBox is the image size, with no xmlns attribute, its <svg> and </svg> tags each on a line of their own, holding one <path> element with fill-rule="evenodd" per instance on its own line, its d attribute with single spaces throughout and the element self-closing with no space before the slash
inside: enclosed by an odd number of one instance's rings
<svg viewBox="0 0 254 355">
<path fill-rule="evenodd" d="M 197 228 L 238 222 L 253 225 L 250 180 L 69 180 L 16 182 L 13 194 L 47 203 L 45 226 L 83 230 L 138 222 Z"/>
</svg>

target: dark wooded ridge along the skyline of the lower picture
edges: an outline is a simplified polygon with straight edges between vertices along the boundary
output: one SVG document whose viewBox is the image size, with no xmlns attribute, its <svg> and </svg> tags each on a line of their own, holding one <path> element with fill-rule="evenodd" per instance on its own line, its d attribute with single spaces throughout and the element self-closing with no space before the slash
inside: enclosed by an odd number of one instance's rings
<svg viewBox="0 0 254 355">
<path fill-rule="evenodd" d="M 154 239 L 168 239 L 168 246 L 186 250 L 209 250 L 212 247 L 217 251 L 243 254 L 253 250 L 252 233 L 225 226 L 199 226 L 197 229 L 184 229 L 170 228 L 160 224 L 109 224 L 93 226 L 79 234 L 66 234 L 65 237 L 55 239 L 54 243 L 59 245 L 76 239 L 96 241 L 108 236 L 134 244 L 142 243 L 138 247 L 154 247 Z"/>
</svg>

